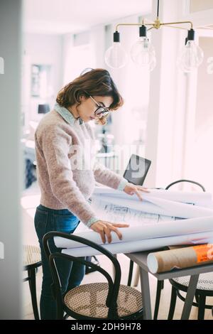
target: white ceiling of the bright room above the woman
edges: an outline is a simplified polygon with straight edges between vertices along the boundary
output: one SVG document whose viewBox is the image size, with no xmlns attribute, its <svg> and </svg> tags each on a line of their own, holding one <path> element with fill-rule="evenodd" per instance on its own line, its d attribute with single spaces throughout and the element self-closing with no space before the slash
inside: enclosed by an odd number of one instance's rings
<svg viewBox="0 0 213 334">
<path fill-rule="evenodd" d="M 77 33 L 100 23 L 151 11 L 151 0 L 23 0 L 28 33 Z"/>
</svg>

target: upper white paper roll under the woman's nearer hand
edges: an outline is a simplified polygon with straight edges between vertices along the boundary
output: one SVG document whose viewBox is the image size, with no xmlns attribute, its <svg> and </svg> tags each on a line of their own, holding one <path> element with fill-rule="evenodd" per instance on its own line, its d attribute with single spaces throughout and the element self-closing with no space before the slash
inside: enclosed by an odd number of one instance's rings
<svg viewBox="0 0 213 334">
<path fill-rule="evenodd" d="M 170 220 L 166 222 L 141 224 L 141 226 L 119 228 L 123 239 L 120 240 L 115 232 L 111 232 L 111 243 L 136 242 L 143 239 L 153 239 L 158 237 L 171 237 L 175 235 L 190 235 L 203 232 L 204 237 L 208 237 L 209 232 L 213 232 L 213 217 L 200 217 L 187 220 Z M 92 230 L 76 233 L 79 237 L 103 244 L 99 233 Z M 83 244 L 62 237 L 54 238 L 55 246 L 59 248 L 83 247 Z"/>
</svg>

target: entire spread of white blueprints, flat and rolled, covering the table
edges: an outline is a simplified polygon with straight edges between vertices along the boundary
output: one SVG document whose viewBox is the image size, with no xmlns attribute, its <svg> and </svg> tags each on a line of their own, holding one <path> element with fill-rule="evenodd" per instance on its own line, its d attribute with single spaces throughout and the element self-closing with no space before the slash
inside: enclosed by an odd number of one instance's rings
<svg viewBox="0 0 213 334">
<path fill-rule="evenodd" d="M 101 244 L 113 254 L 139 252 L 176 244 L 202 244 L 213 240 L 213 210 L 211 197 L 205 193 L 195 195 L 180 193 L 168 199 L 160 192 L 143 193 L 143 200 L 137 196 L 109 189 L 98 190 L 92 196 L 92 208 L 100 220 L 124 222 L 122 240 L 111 232 L 110 244 L 103 244 L 97 232 L 84 227 L 75 234 Z M 111 195 L 112 194 L 112 195 Z M 76 257 L 99 254 L 96 249 L 61 237 L 54 238 L 55 245 L 63 253 Z"/>
</svg>

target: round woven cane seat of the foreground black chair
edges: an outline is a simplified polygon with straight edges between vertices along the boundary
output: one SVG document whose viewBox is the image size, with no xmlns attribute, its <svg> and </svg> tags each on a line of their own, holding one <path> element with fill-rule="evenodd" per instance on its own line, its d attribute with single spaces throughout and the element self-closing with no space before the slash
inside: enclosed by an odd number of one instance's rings
<svg viewBox="0 0 213 334">
<path fill-rule="evenodd" d="M 82 316 L 107 318 L 109 308 L 106 306 L 107 283 L 82 284 L 65 294 L 67 308 Z M 130 286 L 121 285 L 118 296 L 118 314 L 130 316 L 142 308 L 141 292 Z"/>
</svg>

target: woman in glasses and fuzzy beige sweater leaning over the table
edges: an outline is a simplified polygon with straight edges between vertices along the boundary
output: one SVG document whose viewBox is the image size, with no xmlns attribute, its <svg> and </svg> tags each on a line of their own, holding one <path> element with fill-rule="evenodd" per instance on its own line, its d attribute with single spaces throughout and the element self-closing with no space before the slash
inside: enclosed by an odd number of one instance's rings
<svg viewBox="0 0 213 334">
<path fill-rule="evenodd" d="M 123 99 L 109 72 L 91 70 L 66 85 L 58 93 L 54 109 L 43 117 L 35 131 L 35 154 L 40 205 L 35 212 L 35 230 L 40 242 L 43 264 L 43 284 L 40 297 L 41 319 L 55 319 L 55 300 L 51 293 L 51 275 L 45 257 L 42 238 L 46 232 L 72 233 L 80 220 L 99 233 L 102 242 L 111 242 L 111 231 L 121 239 L 118 227 L 100 220 L 89 205 L 95 181 L 124 190 L 141 198 L 141 186 L 128 183 L 118 174 L 94 162 L 94 134 L 88 122 L 96 119 L 105 124 L 110 110 L 121 107 Z M 84 166 L 82 166 L 82 164 Z M 57 248 L 50 244 L 52 251 Z M 80 285 L 84 265 L 59 262 L 62 292 Z"/>
</svg>

